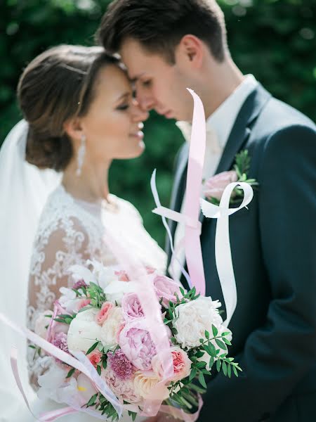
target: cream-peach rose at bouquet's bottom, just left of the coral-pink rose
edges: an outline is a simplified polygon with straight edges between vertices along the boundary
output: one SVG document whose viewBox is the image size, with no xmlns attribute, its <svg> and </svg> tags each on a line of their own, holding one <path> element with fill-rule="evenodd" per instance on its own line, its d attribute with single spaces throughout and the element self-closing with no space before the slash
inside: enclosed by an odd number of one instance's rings
<svg viewBox="0 0 316 422">
<path fill-rule="evenodd" d="M 144 399 L 165 400 L 169 397 L 169 390 L 166 385 L 159 385 L 160 379 L 152 371 L 136 371 L 134 378 L 134 389 L 137 395 Z"/>
</svg>

